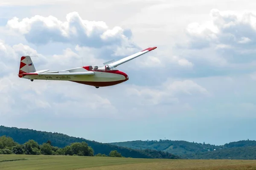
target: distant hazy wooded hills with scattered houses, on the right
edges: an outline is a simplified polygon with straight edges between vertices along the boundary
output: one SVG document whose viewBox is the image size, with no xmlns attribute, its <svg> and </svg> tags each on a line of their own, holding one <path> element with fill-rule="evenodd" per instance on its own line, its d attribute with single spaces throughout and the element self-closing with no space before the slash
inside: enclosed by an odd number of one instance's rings
<svg viewBox="0 0 256 170">
<path fill-rule="evenodd" d="M 113 145 L 133 149 L 152 149 L 169 152 L 183 159 L 256 159 L 256 141 L 243 140 L 224 145 L 186 141 L 154 140 L 113 142 Z"/>
</svg>

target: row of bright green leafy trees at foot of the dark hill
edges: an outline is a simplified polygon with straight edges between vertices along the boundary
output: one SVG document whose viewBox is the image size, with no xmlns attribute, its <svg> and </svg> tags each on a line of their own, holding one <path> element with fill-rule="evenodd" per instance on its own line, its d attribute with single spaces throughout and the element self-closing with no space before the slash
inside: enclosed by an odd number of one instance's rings
<svg viewBox="0 0 256 170">
<path fill-rule="evenodd" d="M 107 156 L 98 153 L 94 155 L 93 148 L 86 142 L 74 142 L 63 148 L 52 146 L 50 140 L 38 144 L 30 139 L 24 144 L 18 144 L 11 137 L 0 136 L 0 154 L 26 154 L 26 155 L 70 155 L 70 156 Z M 121 153 L 111 150 L 110 157 L 122 157 Z"/>
</svg>

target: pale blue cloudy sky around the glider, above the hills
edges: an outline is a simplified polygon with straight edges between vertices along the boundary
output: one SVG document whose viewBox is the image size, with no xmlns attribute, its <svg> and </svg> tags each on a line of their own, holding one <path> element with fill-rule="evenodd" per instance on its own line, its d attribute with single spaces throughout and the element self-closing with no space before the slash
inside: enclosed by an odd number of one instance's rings
<svg viewBox="0 0 256 170">
<path fill-rule="evenodd" d="M 97 142 L 256 140 L 256 2 L 0 0 L 0 125 Z M 21 79 L 148 47 L 104 88 Z"/>
</svg>

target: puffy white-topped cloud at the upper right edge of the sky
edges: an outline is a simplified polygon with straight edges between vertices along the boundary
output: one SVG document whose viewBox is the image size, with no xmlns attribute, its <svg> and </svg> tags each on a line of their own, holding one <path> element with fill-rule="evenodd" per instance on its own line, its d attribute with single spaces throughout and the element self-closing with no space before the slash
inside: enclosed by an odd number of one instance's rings
<svg viewBox="0 0 256 170">
<path fill-rule="evenodd" d="M 236 13 L 234 11 L 210 11 L 211 20 L 205 23 L 190 23 L 186 29 L 191 38 L 191 48 L 207 48 L 211 45 L 227 45 L 242 51 L 256 40 L 256 14 L 250 11 Z M 255 45 L 253 45 L 255 46 Z"/>
</svg>

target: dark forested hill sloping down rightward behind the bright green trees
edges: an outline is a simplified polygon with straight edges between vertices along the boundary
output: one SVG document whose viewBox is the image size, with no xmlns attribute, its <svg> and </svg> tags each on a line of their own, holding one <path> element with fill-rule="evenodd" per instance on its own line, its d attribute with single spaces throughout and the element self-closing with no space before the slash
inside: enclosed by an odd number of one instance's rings
<svg viewBox="0 0 256 170">
<path fill-rule="evenodd" d="M 83 138 L 71 137 L 62 133 L 43 132 L 38 130 L 23 129 L 16 127 L 0 126 L 0 136 L 11 137 L 15 142 L 24 144 L 30 139 L 43 144 L 48 140 L 51 141 L 52 146 L 65 147 L 74 142 L 86 142 L 88 146 L 92 147 L 94 154 L 101 153 L 108 155 L 111 150 L 117 150 L 124 157 L 132 158 L 164 158 L 164 159 L 178 159 L 171 153 L 157 151 L 157 150 L 135 150 L 126 147 L 119 147 L 111 144 L 104 144 L 100 142 L 90 141 Z"/>
</svg>

